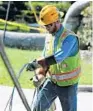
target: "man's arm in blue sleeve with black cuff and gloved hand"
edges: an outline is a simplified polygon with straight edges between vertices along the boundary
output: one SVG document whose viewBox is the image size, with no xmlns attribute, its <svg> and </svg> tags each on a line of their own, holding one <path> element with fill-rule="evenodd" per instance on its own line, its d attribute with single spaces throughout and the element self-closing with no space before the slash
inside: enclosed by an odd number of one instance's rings
<svg viewBox="0 0 93 111">
<path fill-rule="evenodd" d="M 33 70 L 38 67 L 47 68 L 50 65 L 62 62 L 69 56 L 73 56 L 78 52 L 78 39 L 75 36 L 68 36 L 62 43 L 59 51 L 55 52 L 53 55 L 38 59 L 28 64 L 27 69 Z"/>
</svg>

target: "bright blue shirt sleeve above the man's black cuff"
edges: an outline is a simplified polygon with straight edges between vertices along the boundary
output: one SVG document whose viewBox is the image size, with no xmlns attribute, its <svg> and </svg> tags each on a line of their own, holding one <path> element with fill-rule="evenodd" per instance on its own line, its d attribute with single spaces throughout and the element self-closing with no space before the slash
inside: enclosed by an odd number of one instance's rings
<svg viewBox="0 0 93 111">
<path fill-rule="evenodd" d="M 62 62 L 67 57 L 75 55 L 78 52 L 78 45 L 77 37 L 69 35 L 63 41 L 61 48 L 54 54 L 56 62 Z"/>
</svg>

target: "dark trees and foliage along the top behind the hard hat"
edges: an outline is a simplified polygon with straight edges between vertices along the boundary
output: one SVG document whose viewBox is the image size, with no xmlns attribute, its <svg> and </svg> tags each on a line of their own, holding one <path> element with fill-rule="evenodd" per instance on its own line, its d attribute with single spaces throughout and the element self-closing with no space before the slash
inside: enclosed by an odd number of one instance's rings
<svg viewBox="0 0 93 111">
<path fill-rule="evenodd" d="M 31 1 L 31 3 L 28 1 L 11 1 L 8 20 L 27 24 L 36 23 L 33 10 L 35 10 L 36 15 L 39 16 L 39 12 L 43 6 L 47 4 L 54 4 L 61 12 L 65 14 L 72 3 L 73 2 L 58 1 Z M 0 1 L 0 18 L 5 19 L 7 5 L 7 1 Z"/>
</svg>

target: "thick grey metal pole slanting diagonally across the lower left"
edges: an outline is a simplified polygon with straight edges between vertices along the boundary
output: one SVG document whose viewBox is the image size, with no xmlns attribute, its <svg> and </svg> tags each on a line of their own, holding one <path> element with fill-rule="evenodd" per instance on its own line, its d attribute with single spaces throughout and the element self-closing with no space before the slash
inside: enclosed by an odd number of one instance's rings
<svg viewBox="0 0 93 111">
<path fill-rule="evenodd" d="M 10 75 L 11 79 L 13 80 L 14 85 L 17 88 L 17 91 L 19 93 L 19 96 L 20 96 L 25 108 L 27 109 L 27 111 L 31 111 L 31 109 L 29 107 L 29 104 L 27 102 L 27 99 L 26 99 L 26 97 L 25 97 L 25 95 L 24 95 L 24 93 L 21 89 L 20 83 L 17 80 L 17 77 L 14 73 L 14 70 L 13 70 L 13 68 L 12 68 L 12 66 L 11 66 L 11 64 L 8 60 L 8 57 L 7 57 L 6 53 L 5 53 L 2 37 L 0 37 L 0 55 L 1 55 L 1 58 L 2 58 L 5 66 L 6 66 L 7 71 L 9 72 L 9 75 Z"/>
</svg>

